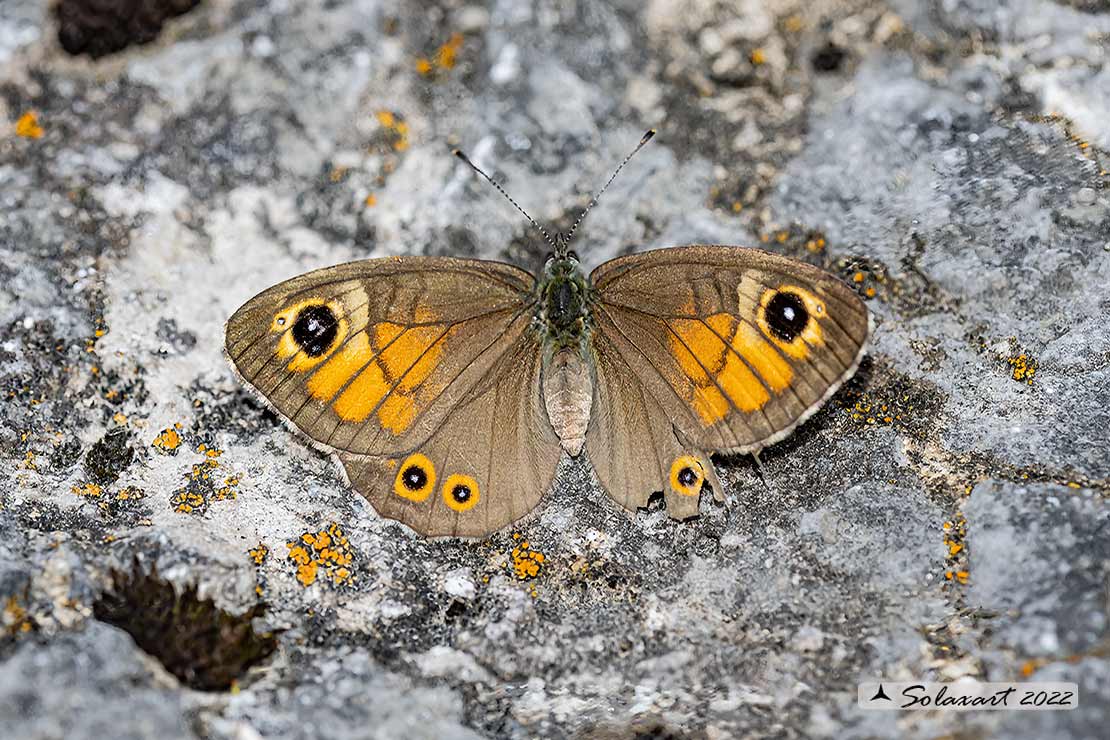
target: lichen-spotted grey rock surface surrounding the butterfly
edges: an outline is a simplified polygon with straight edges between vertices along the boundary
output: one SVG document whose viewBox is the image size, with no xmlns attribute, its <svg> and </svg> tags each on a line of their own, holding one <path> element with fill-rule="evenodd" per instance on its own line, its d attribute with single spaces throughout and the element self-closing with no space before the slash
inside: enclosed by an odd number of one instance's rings
<svg viewBox="0 0 1110 740">
<path fill-rule="evenodd" d="M 0 3 L 3 727 L 1104 734 L 1104 2 L 206 0 L 97 62 L 44 8 Z M 280 280 L 542 262 L 452 146 L 559 229 L 647 126 L 582 229 L 587 267 L 761 245 L 876 316 L 857 377 L 764 453 L 767 485 L 730 459 L 726 504 L 629 518 L 565 463 L 526 525 L 427 541 L 236 383 L 223 322 Z M 104 622 L 135 570 L 261 605 L 278 649 L 192 688 L 196 666 Z M 965 676 L 1074 681 L 1081 706 L 856 708 L 860 680 Z"/>
</svg>

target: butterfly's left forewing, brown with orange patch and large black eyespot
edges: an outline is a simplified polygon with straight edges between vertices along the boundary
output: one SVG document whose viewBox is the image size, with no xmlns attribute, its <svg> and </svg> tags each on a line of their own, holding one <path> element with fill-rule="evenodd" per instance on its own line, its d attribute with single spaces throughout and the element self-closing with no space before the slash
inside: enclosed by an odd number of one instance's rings
<svg viewBox="0 0 1110 740">
<path fill-rule="evenodd" d="M 316 443 L 389 456 L 444 424 L 532 320 L 511 265 L 387 257 L 317 270 L 228 321 L 240 375 Z"/>
</svg>

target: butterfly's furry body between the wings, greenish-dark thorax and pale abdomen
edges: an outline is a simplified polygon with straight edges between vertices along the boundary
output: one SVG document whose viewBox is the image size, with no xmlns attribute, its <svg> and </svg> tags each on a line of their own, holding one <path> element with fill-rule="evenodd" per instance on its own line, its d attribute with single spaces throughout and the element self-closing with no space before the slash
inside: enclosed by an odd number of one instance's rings
<svg viewBox="0 0 1110 740">
<path fill-rule="evenodd" d="M 552 257 L 539 281 L 536 320 L 543 334 L 544 406 L 567 454 L 582 452 L 589 425 L 593 378 L 587 362 L 589 282 L 578 261 Z"/>
</svg>

